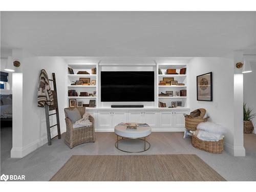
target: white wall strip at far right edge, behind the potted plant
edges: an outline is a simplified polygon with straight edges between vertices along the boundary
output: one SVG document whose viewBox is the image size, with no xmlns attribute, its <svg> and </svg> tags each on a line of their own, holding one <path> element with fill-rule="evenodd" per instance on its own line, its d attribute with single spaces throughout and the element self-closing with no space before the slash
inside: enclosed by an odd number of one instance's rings
<svg viewBox="0 0 256 192">
<path fill-rule="evenodd" d="M 251 73 L 244 74 L 244 102 L 250 109 L 253 109 L 252 113 L 256 113 L 256 62 L 250 62 Z M 256 134 L 256 118 L 252 120 L 254 130 L 253 133 Z"/>
</svg>

